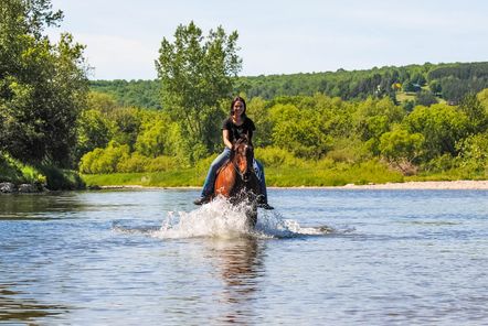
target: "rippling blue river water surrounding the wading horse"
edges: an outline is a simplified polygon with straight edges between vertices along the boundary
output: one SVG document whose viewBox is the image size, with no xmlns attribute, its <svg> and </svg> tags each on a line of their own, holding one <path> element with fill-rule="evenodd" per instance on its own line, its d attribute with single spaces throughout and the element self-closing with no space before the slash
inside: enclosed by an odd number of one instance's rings
<svg viewBox="0 0 488 326">
<path fill-rule="evenodd" d="M 487 325 L 488 192 L 0 196 L 0 323 Z"/>
</svg>

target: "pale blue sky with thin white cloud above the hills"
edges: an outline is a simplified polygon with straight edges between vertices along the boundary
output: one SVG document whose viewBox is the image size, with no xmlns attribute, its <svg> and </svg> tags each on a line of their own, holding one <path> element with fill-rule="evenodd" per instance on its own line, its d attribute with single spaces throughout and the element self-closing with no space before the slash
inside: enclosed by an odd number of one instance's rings
<svg viewBox="0 0 488 326">
<path fill-rule="evenodd" d="M 486 0 L 53 0 L 54 41 L 85 44 L 91 79 L 155 79 L 161 41 L 193 21 L 237 31 L 240 76 L 488 61 Z"/>
</svg>

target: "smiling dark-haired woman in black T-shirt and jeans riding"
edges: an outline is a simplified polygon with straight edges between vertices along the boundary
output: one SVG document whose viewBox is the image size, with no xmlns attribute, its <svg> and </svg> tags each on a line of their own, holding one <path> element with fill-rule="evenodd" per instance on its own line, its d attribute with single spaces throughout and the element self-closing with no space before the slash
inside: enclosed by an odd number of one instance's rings
<svg viewBox="0 0 488 326">
<path fill-rule="evenodd" d="M 247 118 L 246 102 L 242 97 L 236 97 L 231 104 L 231 115 L 222 123 L 222 139 L 224 141 L 224 151 L 213 160 L 210 165 L 209 173 L 206 174 L 205 182 L 203 183 L 203 189 L 200 198 L 193 203 L 195 205 L 202 205 L 210 202 L 210 197 L 213 194 L 213 187 L 215 184 L 215 176 L 219 169 L 231 156 L 232 144 L 235 143 L 242 135 L 247 134 L 250 141 L 253 138 L 253 131 L 256 130 L 253 120 Z M 254 171 L 259 180 L 261 195 L 259 207 L 265 209 L 274 209 L 267 204 L 266 182 L 264 180 L 263 165 L 256 160 L 253 161 Z"/>
</svg>

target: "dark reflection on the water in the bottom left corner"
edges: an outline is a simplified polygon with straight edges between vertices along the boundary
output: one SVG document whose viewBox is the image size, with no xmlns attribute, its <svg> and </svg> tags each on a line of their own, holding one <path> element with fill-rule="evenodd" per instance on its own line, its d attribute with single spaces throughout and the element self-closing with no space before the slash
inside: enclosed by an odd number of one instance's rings
<svg viewBox="0 0 488 326">
<path fill-rule="evenodd" d="M 2 322 L 33 322 L 42 317 L 62 315 L 68 312 L 65 306 L 40 304 L 24 298 L 24 294 L 8 290 L 0 284 L 0 324 Z"/>
</svg>

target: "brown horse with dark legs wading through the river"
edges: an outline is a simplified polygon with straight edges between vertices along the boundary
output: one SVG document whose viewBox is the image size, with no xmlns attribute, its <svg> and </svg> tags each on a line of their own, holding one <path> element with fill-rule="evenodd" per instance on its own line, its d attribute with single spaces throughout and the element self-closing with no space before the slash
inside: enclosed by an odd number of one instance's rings
<svg viewBox="0 0 488 326">
<path fill-rule="evenodd" d="M 231 151 L 231 157 L 219 170 L 214 194 L 212 197 L 222 195 L 237 205 L 247 202 L 246 209 L 248 224 L 254 228 L 257 221 L 256 199 L 259 195 L 259 182 L 253 169 L 254 149 L 247 137 L 237 140 Z"/>
</svg>

